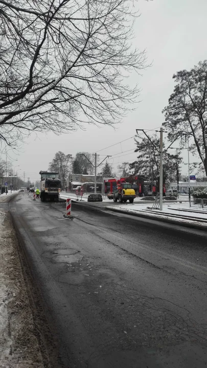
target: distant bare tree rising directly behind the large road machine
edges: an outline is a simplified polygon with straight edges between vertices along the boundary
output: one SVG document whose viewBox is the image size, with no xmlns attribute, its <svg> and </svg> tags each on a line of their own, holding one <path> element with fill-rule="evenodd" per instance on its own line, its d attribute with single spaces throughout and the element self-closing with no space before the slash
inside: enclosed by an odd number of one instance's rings
<svg viewBox="0 0 207 368">
<path fill-rule="evenodd" d="M 63 190 L 65 186 L 65 181 L 70 171 L 69 165 L 71 160 L 72 160 L 71 154 L 65 155 L 63 152 L 59 151 L 55 154 L 55 157 L 49 164 L 49 170 L 59 173 L 59 177 L 62 180 Z"/>
</svg>

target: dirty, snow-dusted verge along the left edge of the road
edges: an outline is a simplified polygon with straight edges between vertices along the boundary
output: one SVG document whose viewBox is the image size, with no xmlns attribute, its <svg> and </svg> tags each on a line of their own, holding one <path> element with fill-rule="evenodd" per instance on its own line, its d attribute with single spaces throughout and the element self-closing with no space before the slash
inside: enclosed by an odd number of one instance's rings
<svg viewBox="0 0 207 368">
<path fill-rule="evenodd" d="M 8 212 L 0 212 L 0 366 L 43 368 L 35 336 L 15 233 Z"/>
</svg>

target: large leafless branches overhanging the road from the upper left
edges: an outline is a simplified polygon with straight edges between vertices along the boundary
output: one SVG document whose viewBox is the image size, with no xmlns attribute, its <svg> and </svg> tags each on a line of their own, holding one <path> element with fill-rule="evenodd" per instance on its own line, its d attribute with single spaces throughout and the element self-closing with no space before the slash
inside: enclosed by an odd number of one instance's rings
<svg viewBox="0 0 207 368">
<path fill-rule="evenodd" d="M 120 120 L 139 94 L 123 80 L 146 67 L 131 48 L 131 9 L 132 0 L 0 0 L 2 140 Z"/>
</svg>

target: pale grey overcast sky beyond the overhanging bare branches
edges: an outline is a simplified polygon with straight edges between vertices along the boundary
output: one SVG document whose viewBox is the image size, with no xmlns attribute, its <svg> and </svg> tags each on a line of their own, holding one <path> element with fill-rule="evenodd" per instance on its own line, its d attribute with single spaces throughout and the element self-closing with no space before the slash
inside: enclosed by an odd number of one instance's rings
<svg viewBox="0 0 207 368">
<path fill-rule="evenodd" d="M 206 0 L 140 0 L 136 6 L 141 16 L 136 20 L 133 42 L 140 50 L 147 50 L 148 61 L 152 62 L 142 76 L 135 75 L 141 88 L 141 102 L 136 111 L 128 113 L 116 130 L 90 125 L 85 126 L 85 131 L 60 136 L 53 133 L 32 135 L 18 156 L 12 154 L 13 159 L 18 159 L 15 163 L 19 165 L 16 169 L 21 169 L 18 173 L 23 175 L 25 171 L 26 180 L 28 177 L 31 181 L 39 179 L 39 171 L 48 169 L 57 151 L 72 155 L 78 151 L 93 153 L 128 139 L 135 134 L 136 128 L 153 129 L 162 125 L 162 109 L 174 87 L 172 75 L 207 58 Z M 100 154 L 117 154 L 109 160 L 116 171 L 119 163 L 132 162 L 136 158 L 133 151 L 121 153 L 132 148 L 135 145 L 130 139 Z M 187 168 L 183 167 L 183 171 L 186 173 Z"/>
</svg>

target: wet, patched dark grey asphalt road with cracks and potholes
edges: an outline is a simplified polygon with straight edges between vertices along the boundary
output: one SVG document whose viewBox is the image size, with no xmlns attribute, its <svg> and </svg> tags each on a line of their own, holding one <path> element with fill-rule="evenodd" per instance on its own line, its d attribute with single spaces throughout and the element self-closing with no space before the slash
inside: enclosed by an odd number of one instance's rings
<svg viewBox="0 0 207 368">
<path fill-rule="evenodd" d="M 66 368 L 207 366 L 207 233 L 73 203 L 9 203 Z"/>
</svg>

